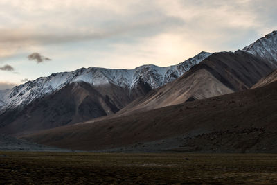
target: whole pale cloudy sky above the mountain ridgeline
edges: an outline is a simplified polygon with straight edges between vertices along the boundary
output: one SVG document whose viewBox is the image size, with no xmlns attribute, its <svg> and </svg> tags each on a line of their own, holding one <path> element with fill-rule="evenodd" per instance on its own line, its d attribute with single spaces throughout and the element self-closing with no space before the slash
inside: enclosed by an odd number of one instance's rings
<svg viewBox="0 0 277 185">
<path fill-rule="evenodd" d="M 276 0 L 0 0 L 0 89 L 81 67 L 178 64 L 277 30 Z"/>
</svg>

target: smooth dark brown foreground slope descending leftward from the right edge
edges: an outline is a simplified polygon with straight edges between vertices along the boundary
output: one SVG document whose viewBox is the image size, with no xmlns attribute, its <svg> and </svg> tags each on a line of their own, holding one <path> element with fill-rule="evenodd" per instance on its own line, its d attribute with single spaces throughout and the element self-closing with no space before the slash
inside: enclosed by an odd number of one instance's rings
<svg viewBox="0 0 277 185">
<path fill-rule="evenodd" d="M 277 151 L 276 144 L 265 140 L 268 139 L 266 135 L 270 134 L 276 136 L 273 139 L 277 139 L 276 94 L 277 82 L 273 82 L 265 87 L 148 112 L 118 116 L 94 123 L 58 127 L 24 136 L 24 139 L 60 148 L 98 150 L 180 135 L 199 136 L 198 140 L 205 146 L 207 142 L 205 136 L 209 138 L 209 133 L 216 133 L 218 138 L 222 139 L 218 141 L 219 143 L 227 139 L 227 143 L 232 143 L 235 148 L 241 148 L 241 143 L 244 141 L 251 141 L 247 144 L 248 148 L 257 146 Z M 252 142 L 253 134 L 244 132 L 251 129 L 262 130 L 265 137 Z M 224 133 L 227 133 L 226 138 Z M 217 141 L 216 134 L 213 141 Z M 244 140 L 240 139 L 242 134 Z M 204 139 L 201 139 L 202 136 Z M 188 139 L 188 141 L 191 144 L 194 140 Z M 224 147 L 224 143 L 221 147 Z"/>
</svg>

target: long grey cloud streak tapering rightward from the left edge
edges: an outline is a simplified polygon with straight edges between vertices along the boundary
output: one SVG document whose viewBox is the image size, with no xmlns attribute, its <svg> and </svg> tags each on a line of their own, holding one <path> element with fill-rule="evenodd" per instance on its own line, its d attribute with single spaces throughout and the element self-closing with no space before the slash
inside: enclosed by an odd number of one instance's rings
<svg viewBox="0 0 277 185">
<path fill-rule="evenodd" d="M 164 15 L 161 10 L 154 12 L 149 10 L 145 13 L 137 12 L 136 15 L 129 17 L 115 17 L 109 21 L 104 19 L 98 24 L 86 22 L 86 25 L 77 24 L 73 28 L 60 28 L 55 31 L 52 28 L 41 30 L 35 27 L 20 31 L 10 28 L 0 29 L 0 42 L 28 46 L 33 44 L 64 44 L 120 36 L 148 37 L 180 25 L 184 25 L 184 21 L 179 17 Z"/>
</svg>

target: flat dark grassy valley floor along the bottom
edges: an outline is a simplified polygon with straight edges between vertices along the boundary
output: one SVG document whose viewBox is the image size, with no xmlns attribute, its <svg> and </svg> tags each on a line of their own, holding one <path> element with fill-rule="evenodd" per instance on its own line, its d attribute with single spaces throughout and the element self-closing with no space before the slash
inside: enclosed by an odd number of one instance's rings
<svg viewBox="0 0 277 185">
<path fill-rule="evenodd" d="M 276 184 L 276 154 L 0 152 L 0 184 Z"/>
</svg>

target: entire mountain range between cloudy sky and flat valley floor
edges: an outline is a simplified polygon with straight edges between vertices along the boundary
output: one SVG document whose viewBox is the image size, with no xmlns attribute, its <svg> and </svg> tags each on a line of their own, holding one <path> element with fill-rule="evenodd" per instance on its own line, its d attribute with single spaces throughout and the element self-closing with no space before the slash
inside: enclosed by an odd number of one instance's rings
<svg viewBox="0 0 277 185">
<path fill-rule="evenodd" d="M 168 143 L 199 146 L 202 139 L 210 142 L 205 139 L 223 133 L 223 141 L 245 129 L 254 134 L 263 130 L 274 139 L 268 131 L 274 131 L 276 116 L 263 109 L 276 109 L 276 69 L 274 31 L 242 50 L 201 52 L 170 67 L 53 73 L 0 91 L 0 133 L 78 150 L 128 148 L 141 142 L 147 148 L 160 140 L 165 142 L 159 150 L 172 148 Z M 172 141 L 180 135 L 187 143 Z M 241 151 L 237 146 L 224 149 L 232 142 L 229 138 L 219 150 Z M 243 150 L 262 151 L 255 147 Z"/>
</svg>

